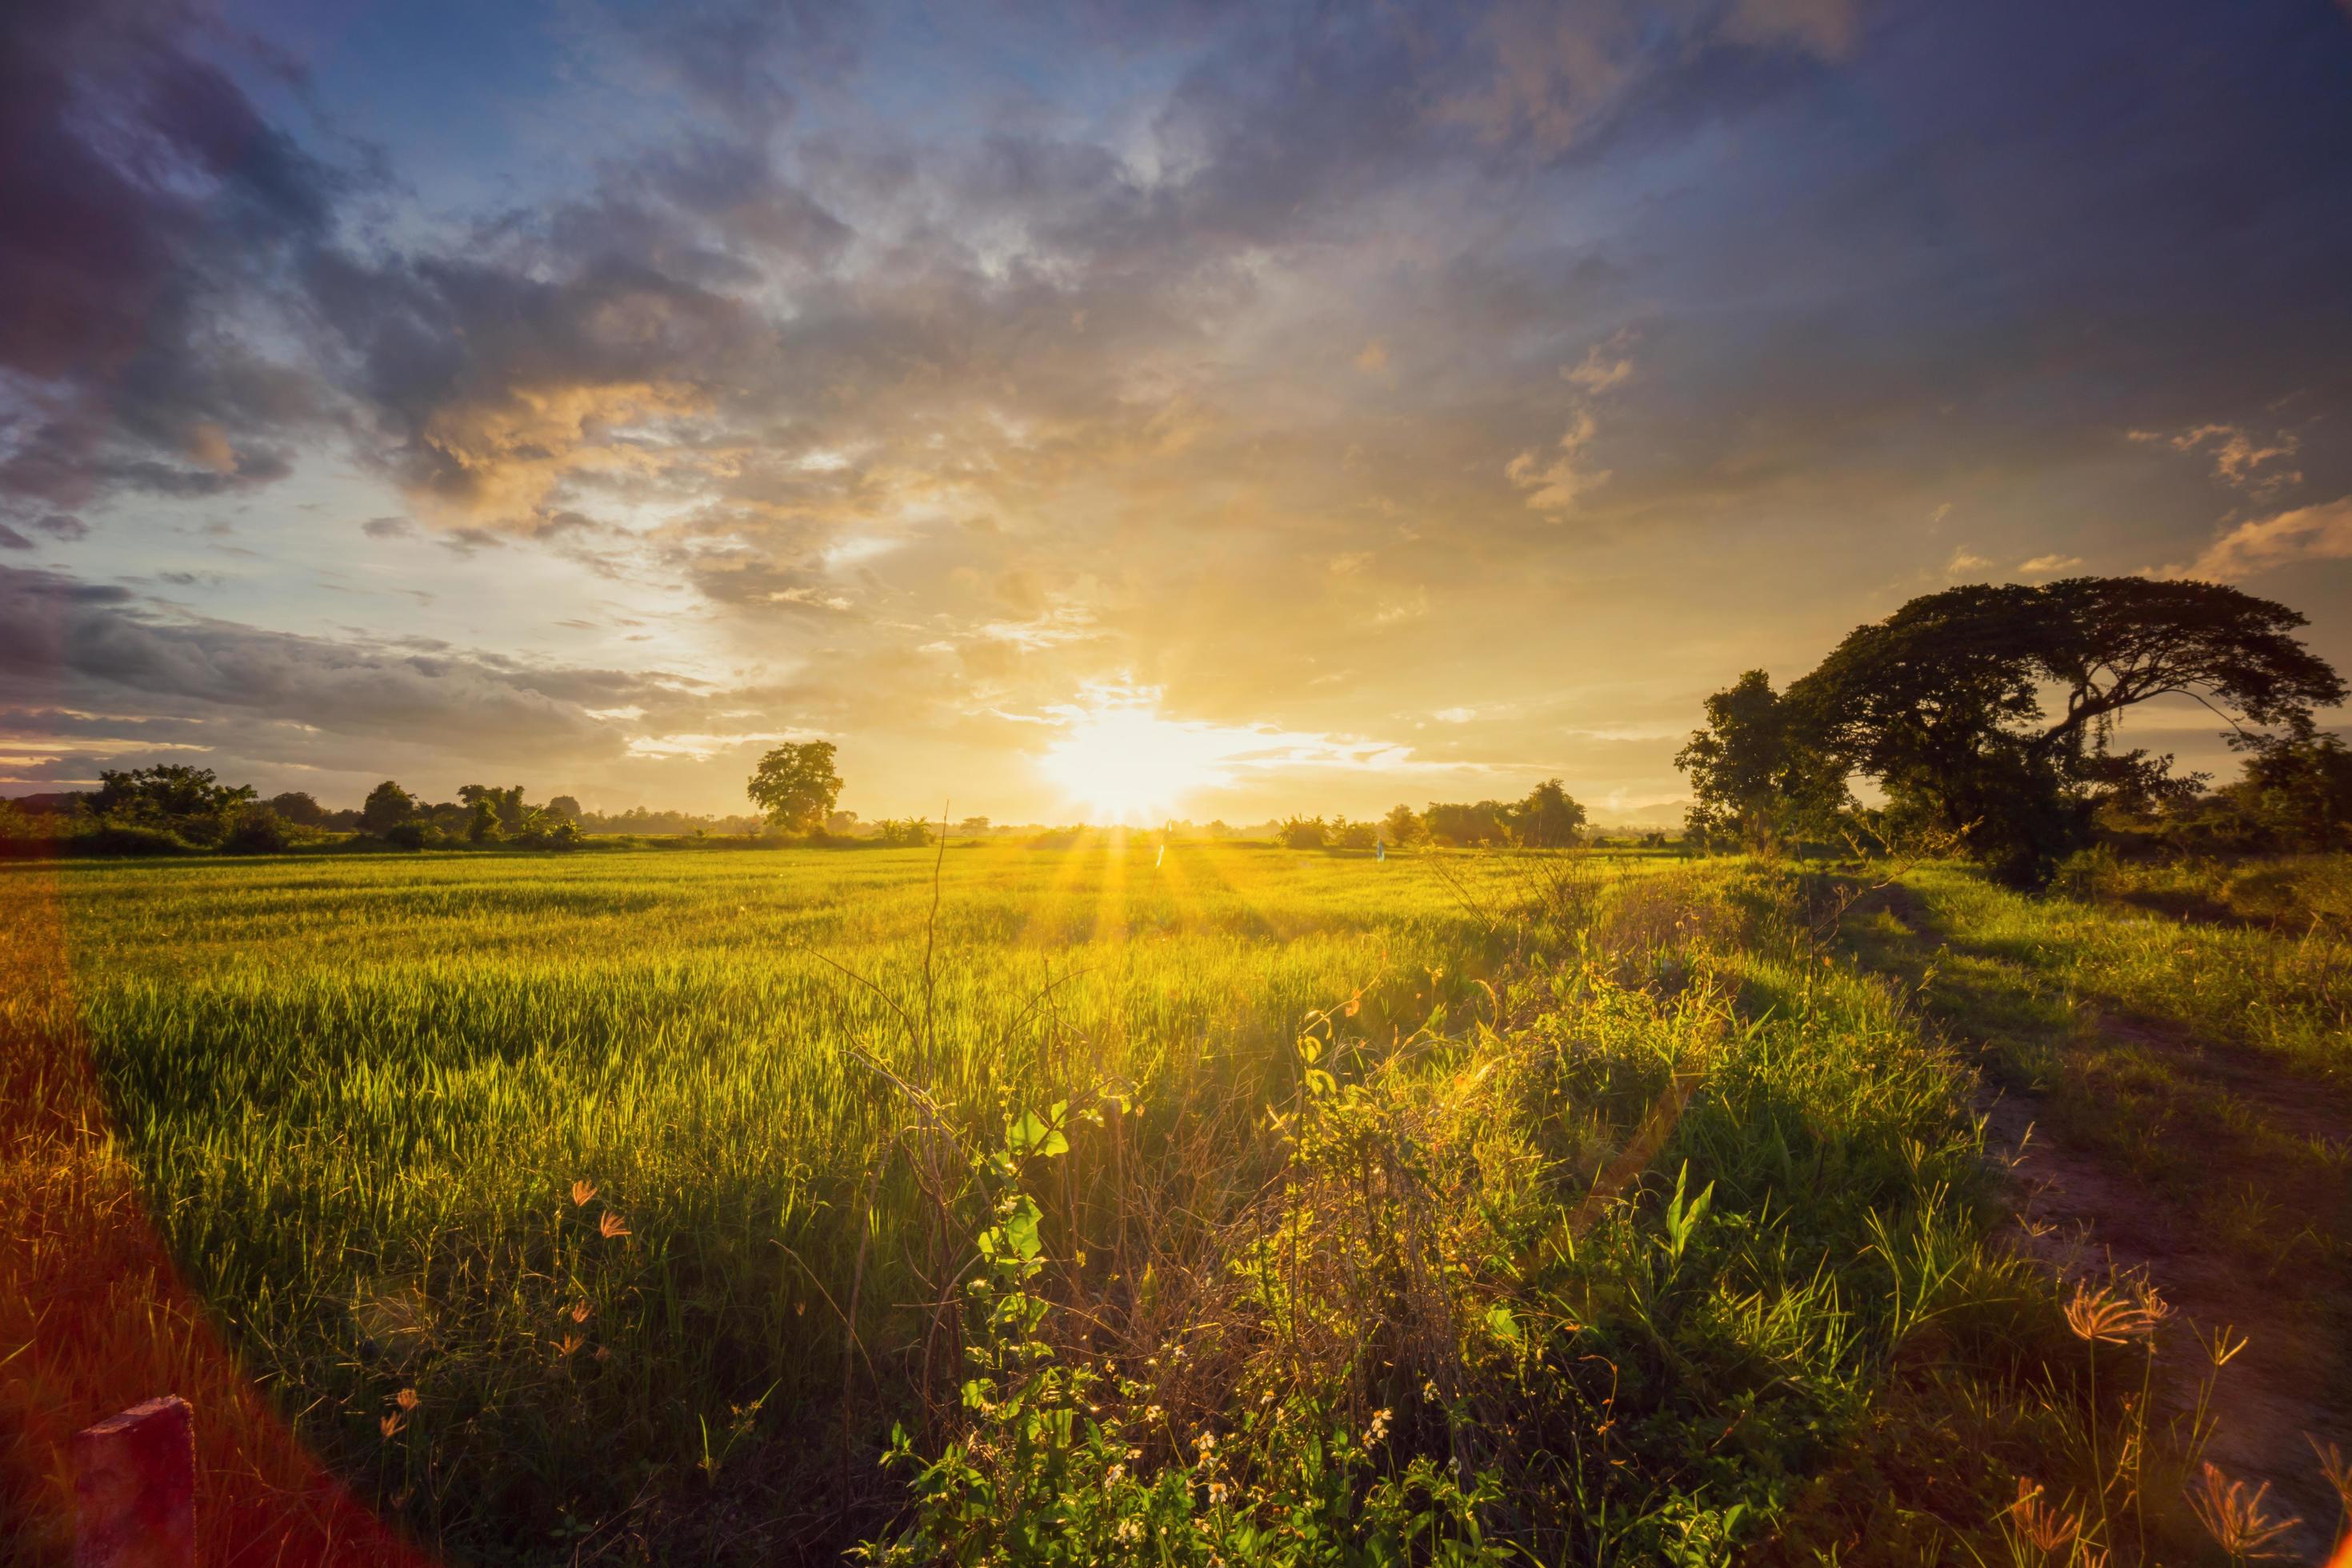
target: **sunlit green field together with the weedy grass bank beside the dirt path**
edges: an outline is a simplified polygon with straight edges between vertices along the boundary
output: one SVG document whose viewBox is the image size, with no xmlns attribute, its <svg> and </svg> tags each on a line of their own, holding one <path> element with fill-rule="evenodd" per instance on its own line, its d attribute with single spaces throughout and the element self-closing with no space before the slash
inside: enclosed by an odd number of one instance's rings
<svg viewBox="0 0 2352 1568">
<path fill-rule="evenodd" d="M 2020 1476 L 2119 1561 L 2201 1540 L 2150 1345 L 2070 1335 L 1994 1239 L 1966 1018 L 1825 933 L 1823 875 L 0 870 L 35 875 L 71 983 L 0 1001 L 14 1081 L 89 1053 L 245 1371 L 456 1561 L 2011 1561 Z M 2239 931 L 1924 886 L 1978 961 L 2154 966 L 2307 1070 L 2343 1041 L 2336 971 L 2223 997 Z M 21 1143 L 0 1201 L 66 1213 L 56 1161 Z"/>
</svg>

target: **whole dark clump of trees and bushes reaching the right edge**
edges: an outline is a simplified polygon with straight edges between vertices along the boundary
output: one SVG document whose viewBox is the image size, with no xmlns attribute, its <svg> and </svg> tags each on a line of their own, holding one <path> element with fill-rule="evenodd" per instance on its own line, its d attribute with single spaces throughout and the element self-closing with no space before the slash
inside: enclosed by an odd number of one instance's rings
<svg viewBox="0 0 2352 1568">
<path fill-rule="evenodd" d="M 1689 832 L 1773 853 L 1804 839 L 1973 856 L 2016 886 L 2049 882 L 2100 823 L 2331 846 L 2352 823 L 2352 757 L 2312 708 L 2345 684 L 2293 630 L 2305 618 L 2237 588 L 2150 578 L 1971 585 L 1856 628 L 1773 691 L 1750 670 L 1705 703 L 1682 748 Z M 2230 724 L 2246 776 L 2218 795 L 2171 755 L 2117 745 L 2161 696 Z M 1882 804 L 1863 806 L 1856 780 Z"/>
</svg>

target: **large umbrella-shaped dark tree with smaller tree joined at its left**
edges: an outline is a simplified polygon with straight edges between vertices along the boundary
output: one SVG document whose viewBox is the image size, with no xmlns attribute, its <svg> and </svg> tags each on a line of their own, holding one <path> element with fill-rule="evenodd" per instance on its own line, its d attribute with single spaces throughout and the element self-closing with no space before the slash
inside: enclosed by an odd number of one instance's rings
<svg viewBox="0 0 2352 1568">
<path fill-rule="evenodd" d="M 1684 748 L 1700 813 L 1750 818 L 1846 799 L 1851 776 L 1889 811 L 1959 835 L 2016 884 L 2042 882 L 2107 799 L 2194 788 L 2171 757 L 2117 750 L 2117 719 L 2192 698 L 2234 733 L 2307 733 L 2345 698 L 2333 668 L 2272 599 L 2218 583 L 2067 578 L 1971 585 L 1856 628 L 1778 698 L 1762 672 L 1708 703 Z"/>
</svg>

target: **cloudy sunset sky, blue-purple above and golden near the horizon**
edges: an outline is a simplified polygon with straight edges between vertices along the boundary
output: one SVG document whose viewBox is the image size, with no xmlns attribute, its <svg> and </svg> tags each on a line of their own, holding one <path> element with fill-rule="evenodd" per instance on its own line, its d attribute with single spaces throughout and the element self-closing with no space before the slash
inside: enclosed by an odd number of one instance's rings
<svg viewBox="0 0 2352 1568">
<path fill-rule="evenodd" d="M 1672 820 L 1952 583 L 2352 668 L 2347 280 L 2333 0 L 19 0 L 0 792 Z"/>
</svg>

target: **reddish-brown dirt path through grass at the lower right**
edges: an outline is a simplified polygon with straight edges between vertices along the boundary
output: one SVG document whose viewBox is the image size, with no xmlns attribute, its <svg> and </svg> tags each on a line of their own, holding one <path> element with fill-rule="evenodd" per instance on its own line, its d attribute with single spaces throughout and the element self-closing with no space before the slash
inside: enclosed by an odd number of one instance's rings
<svg viewBox="0 0 2352 1568">
<path fill-rule="evenodd" d="M 1886 912 L 1924 950 L 1943 947 L 1915 900 L 1891 898 Z M 2098 1016 L 2089 1039 L 2060 1044 L 2074 1051 L 2100 1046 L 2154 1058 L 2197 1093 L 2230 1095 L 2241 1107 L 2239 1114 L 2265 1133 L 2352 1147 L 2352 1105 L 2246 1051 L 2122 1016 Z M 2232 1253 L 2211 1225 L 2119 1161 L 2098 1150 L 2070 1147 L 2046 1131 L 2056 1121 L 2049 1103 L 2013 1081 L 2002 1086 L 2002 1077 L 1997 1053 L 1987 1048 L 1978 1110 L 1985 1117 L 1987 1154 L 1999 1161 L 2013 1192 L 2016 1246 L 2060 1279 L 2140 1274 L 2173 1305 L 2176 1316 L 2164 1331 L 2169 1354 L 2159 1368 L 2171 1366 L 2164 1399 L 2176 1415 L 2194 1406 L 2206 1378 L 2201 1345 L 2220 1331 L 2246 1340 L 2213 1380 L 2206 1458 L 2232 1479 L 2267 1481 L 2272 1502 L 2303 1519 L 2274 1552 L 2291 1554 L 2291 1561 L 2326 1561 L 2340 1505 L 2319 1474 L 2312 1443 L 2336 1443 L 2352 1453 L 2352 1410 L 2343 1401 L 2343 1389 L 2352 1387 L 2352 1345 L 2343 1342 L 2343 1316 L 2331 1324 L 2326 1309 L 2314 1309 L 2310 1291 L 2281 1288 L 2249 1269 L 2244 1251 Z M 2211 1182 L 2225 1190 L 2265 1175 L 2246 1166 L 2249 1150 L 2223 1140 L 2201 1150 L 2201 1157 L 2211 1161 Z M 2291 1213 L 2281 1222 L 2300 1225 Z M 2326 1293 L 2340 1298 L 2347 1288 L 2352 1281 L 2333 1281 Z"/>
</svg>

